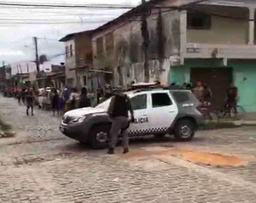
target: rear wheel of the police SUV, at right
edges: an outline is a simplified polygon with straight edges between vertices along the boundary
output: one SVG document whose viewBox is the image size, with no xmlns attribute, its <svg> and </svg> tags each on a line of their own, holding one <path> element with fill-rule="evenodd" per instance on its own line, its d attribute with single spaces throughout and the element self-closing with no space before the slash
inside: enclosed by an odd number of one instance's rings
<svg viewBox="0 0 256 203">
<path fill-rule="evenodd" d="M 182 129 L 184 127 L 186 127 L 185 129 L 188 131 L 188 132 L 185 131 L 186 134 L 184 134 L 185 133 L 183 132 L 184 129 Z M 176 140 L 187 142 L 192 140 L 192 138 L 194 137 L 195 129 L 196 129 L 196 125 L 192 120 L 182 119 L 175 124 L 173 134 Z"/>
</svg>

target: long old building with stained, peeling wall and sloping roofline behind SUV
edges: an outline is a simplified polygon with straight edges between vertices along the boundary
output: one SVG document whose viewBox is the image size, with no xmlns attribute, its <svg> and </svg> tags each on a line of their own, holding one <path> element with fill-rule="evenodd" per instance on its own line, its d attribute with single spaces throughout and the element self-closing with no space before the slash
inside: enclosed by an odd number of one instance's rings
<svg viewBox="0 0 256 203">
<path fill-rule="evenodd" d="M 100 77 L 101 84 L 126 87 L 134 82 L 168 83 L 170 64 L 179 56 L 180 15 L 177 10 L 151 6 L 181 5 L 183 0 L 150 0 L 94 30 L 92 37 L 93 66 L 108 71 Z M 148 69 L 144 67 L 141 16 L 147 17 L 150 43 Z M 172 56 L 170 58 L 170 56 Z M 144 71 L 144 69 L 146 71 Z M 146 76 L 146 78 L 145 78 Z"/>
</svg>

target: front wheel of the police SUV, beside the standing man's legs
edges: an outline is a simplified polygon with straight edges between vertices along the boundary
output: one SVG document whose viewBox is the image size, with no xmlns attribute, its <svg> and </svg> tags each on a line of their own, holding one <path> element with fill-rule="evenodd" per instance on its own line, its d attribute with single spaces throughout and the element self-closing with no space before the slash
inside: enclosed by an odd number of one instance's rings
<svg viewBox="0 0 256 203">
<path fill-rule="evenodd" d="M 92 149 L 107 148 L 109 143 L 110 128 L 111 125 L 109 124 L 99 124 L 93 126 L 93 128 L 89 132 L 89 147 Z"/>
</svg>

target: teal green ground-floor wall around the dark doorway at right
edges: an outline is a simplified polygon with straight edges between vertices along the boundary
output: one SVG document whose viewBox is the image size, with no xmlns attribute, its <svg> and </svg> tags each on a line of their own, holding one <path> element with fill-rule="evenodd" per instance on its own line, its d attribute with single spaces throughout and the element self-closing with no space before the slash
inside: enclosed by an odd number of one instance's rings
<svg viewBox="0 0 256 203">
<path fill-rule="evenodd" d="M 222 59 L 186 59 L 184 65 L 171 67 L 169 80 L 182 85 L 185 75 L 190 76 L 191 68 L 218 67 L 223 68 Z M 239 104 L 247 112 L 256 111 L 256 60 L 229 60 L 228 67 L 233 68 L 233 81 L 239 89 Z"/>
</svg>

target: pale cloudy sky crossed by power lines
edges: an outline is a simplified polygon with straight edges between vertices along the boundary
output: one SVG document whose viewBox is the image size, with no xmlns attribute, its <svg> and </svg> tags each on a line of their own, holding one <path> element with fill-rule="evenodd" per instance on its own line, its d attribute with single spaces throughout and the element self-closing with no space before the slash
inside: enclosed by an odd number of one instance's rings
<svg viewBox="0 0 256 203">
<path fill-rule="evenodd" d="M 139 4 L 141 0 L 0 0 L 14 3 L 36 4 Z M 38 37 L 39 54 L 48 58 L 64 52 L 64 45 L 58 39 L 72 32 L 96 28 L 117 17 L 127 9 L 88 8 L 27 8 L 0 6 L 0 63 L 12 64 L 18 61 L 34 60 L 32 37 Z M 53 63 L 64 57 L 52 59 Z"/>
</svg>

